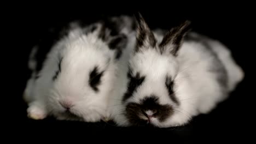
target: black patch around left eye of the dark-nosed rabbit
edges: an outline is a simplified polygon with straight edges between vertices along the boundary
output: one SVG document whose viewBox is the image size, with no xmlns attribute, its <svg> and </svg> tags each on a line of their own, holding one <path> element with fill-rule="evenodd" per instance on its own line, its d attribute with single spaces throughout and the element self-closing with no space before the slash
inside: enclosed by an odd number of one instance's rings
<svg viewBox="0 0 256 144">
<path fill-rule="evenodd" d="M 139 73 L 136 74 L 136 76 L 132 75 L 132 70 L 129 67 L 129 72 L 127 74 L 127 77 L 129 79 L 127 91 L 124 94 L 123 102 L 125 102 L 127 99 L 129 99 L 132 94 L 136 91 L 136 89 L 142 85 L 143 81 L 145 80 L 145 76 L 141 76 Z"/>
</svg>

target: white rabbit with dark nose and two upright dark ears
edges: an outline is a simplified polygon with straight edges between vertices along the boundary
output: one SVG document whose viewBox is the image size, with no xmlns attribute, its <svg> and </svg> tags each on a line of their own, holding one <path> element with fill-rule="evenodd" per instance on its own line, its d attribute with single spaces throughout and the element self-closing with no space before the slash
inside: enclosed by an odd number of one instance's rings
<svg viewBox="0 0 256 144">
<path fill-rule="evenodd" d="M 120 127 L 167 128 L 209 113 L 234 91 L 244 74 L 218 40 L 190 31 L 190 21 L 161 34 L 141 14 L 128 37 L 127 67 L 119 69 L 110 117 Z"/>
</svg>

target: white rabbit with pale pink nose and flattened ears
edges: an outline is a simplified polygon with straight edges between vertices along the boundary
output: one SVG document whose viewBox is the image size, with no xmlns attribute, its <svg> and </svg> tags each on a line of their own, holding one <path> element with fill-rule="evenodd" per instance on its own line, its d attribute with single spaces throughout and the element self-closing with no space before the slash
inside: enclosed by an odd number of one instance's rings
<svg viewBox="0 0 256 144">
<path fill-rule="evenodd" d="M 117 19 L 120 25 L 120 20 L 126 21 L 124 16 L 110 20 Z M 107 23 L 83 27 L 72 22 L 56 43 L 32 49 L 28 62 L 32 75 L 24 91 L 29 118 L 98 122 L 108 117 L 108 97 L 129 29 L 110 29 Z"/>
</svg>

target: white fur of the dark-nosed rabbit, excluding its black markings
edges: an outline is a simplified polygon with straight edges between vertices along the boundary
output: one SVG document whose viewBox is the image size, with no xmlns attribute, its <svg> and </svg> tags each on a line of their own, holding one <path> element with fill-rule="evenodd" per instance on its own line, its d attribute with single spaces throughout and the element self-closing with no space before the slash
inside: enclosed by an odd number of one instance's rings
<svg viewBox="0 0 256 144">
<path fill-rule="evenodd" d="M 156 39 L 161 41 L 162 35 L 155 34 Z M 131 34 L 128 49 L 135 47 L 135 33 Z M 231 57 L 230 51 L 216 40 L 208 39 L 216 52 L 220 61 L 228 73 L 228 92 L 234 90 L 238 82 L 243 79 L 241 68 Z M 208 71 L 215 61 L 211 53 L 207 52 L 204 45 L 196 42 L 183 43 L 178 56 L 160 53 L 155 49 L 143 49 L 135 55 L 131 53 L 129 64 L 133 70 L 138 71 L 146 79 L 132 97 L 123 104 L 123 95 L 127 88 L 127 68 L 119 69 L 119 83 L 117 91 L 112 94 L 110 106 L 111 117 L 119 126 L 129 126 L 125 113 L 125 106 L 128 102 L 138 103 L 139 100 L 155 94 L 160 104 L 169 104 L 174 107 L 174 113 L 164 122 L 159 122 L 157 118 L 150 121 L 156 127 L 173 127 L 187 124 L 191 118 L 200 113 L 208 113 L 221 100 L 228 95 L 223 95 L 214 73 Z M 126 61 L 125 61 L 126 62 Z M 127 65 L 127 63 L 126 63 Z M 170 75 L 174 81 L 174 92 L 180 102 L 176 105 L 168 96 L 165 87 L 165 77 Z"/>
</svg>

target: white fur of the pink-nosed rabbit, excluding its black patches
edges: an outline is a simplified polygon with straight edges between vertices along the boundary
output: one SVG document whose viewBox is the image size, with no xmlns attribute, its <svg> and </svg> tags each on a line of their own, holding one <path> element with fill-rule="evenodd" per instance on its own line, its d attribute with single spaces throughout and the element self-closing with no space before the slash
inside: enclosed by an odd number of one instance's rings
<svg viewBox="0 0 256 144">
<path fill-rule="evenodd" d="M 61 72 L 53 81 L 62 57 Z M 28 80 L 25 99 L 28 116 L 43 119 L 53 115 L 57 119 L 73 119 L 65 115 L 59 101 L 73 105 L 71 112 L 86 122 L 100 121 L 107 115 L 107 101 L 115 80 L 117 69 L 114 51 L 97 37 L 97 31 L 82 34 L 82 29 L 73 29 L 66 38 L 55 44 L 48 53 L 37 80 Z M 31 67 L 33 63 L 30 62 Z M 103 71 L 99 91 L 89 86 L 89 73 L 95 67 Z"/>
</svg>

